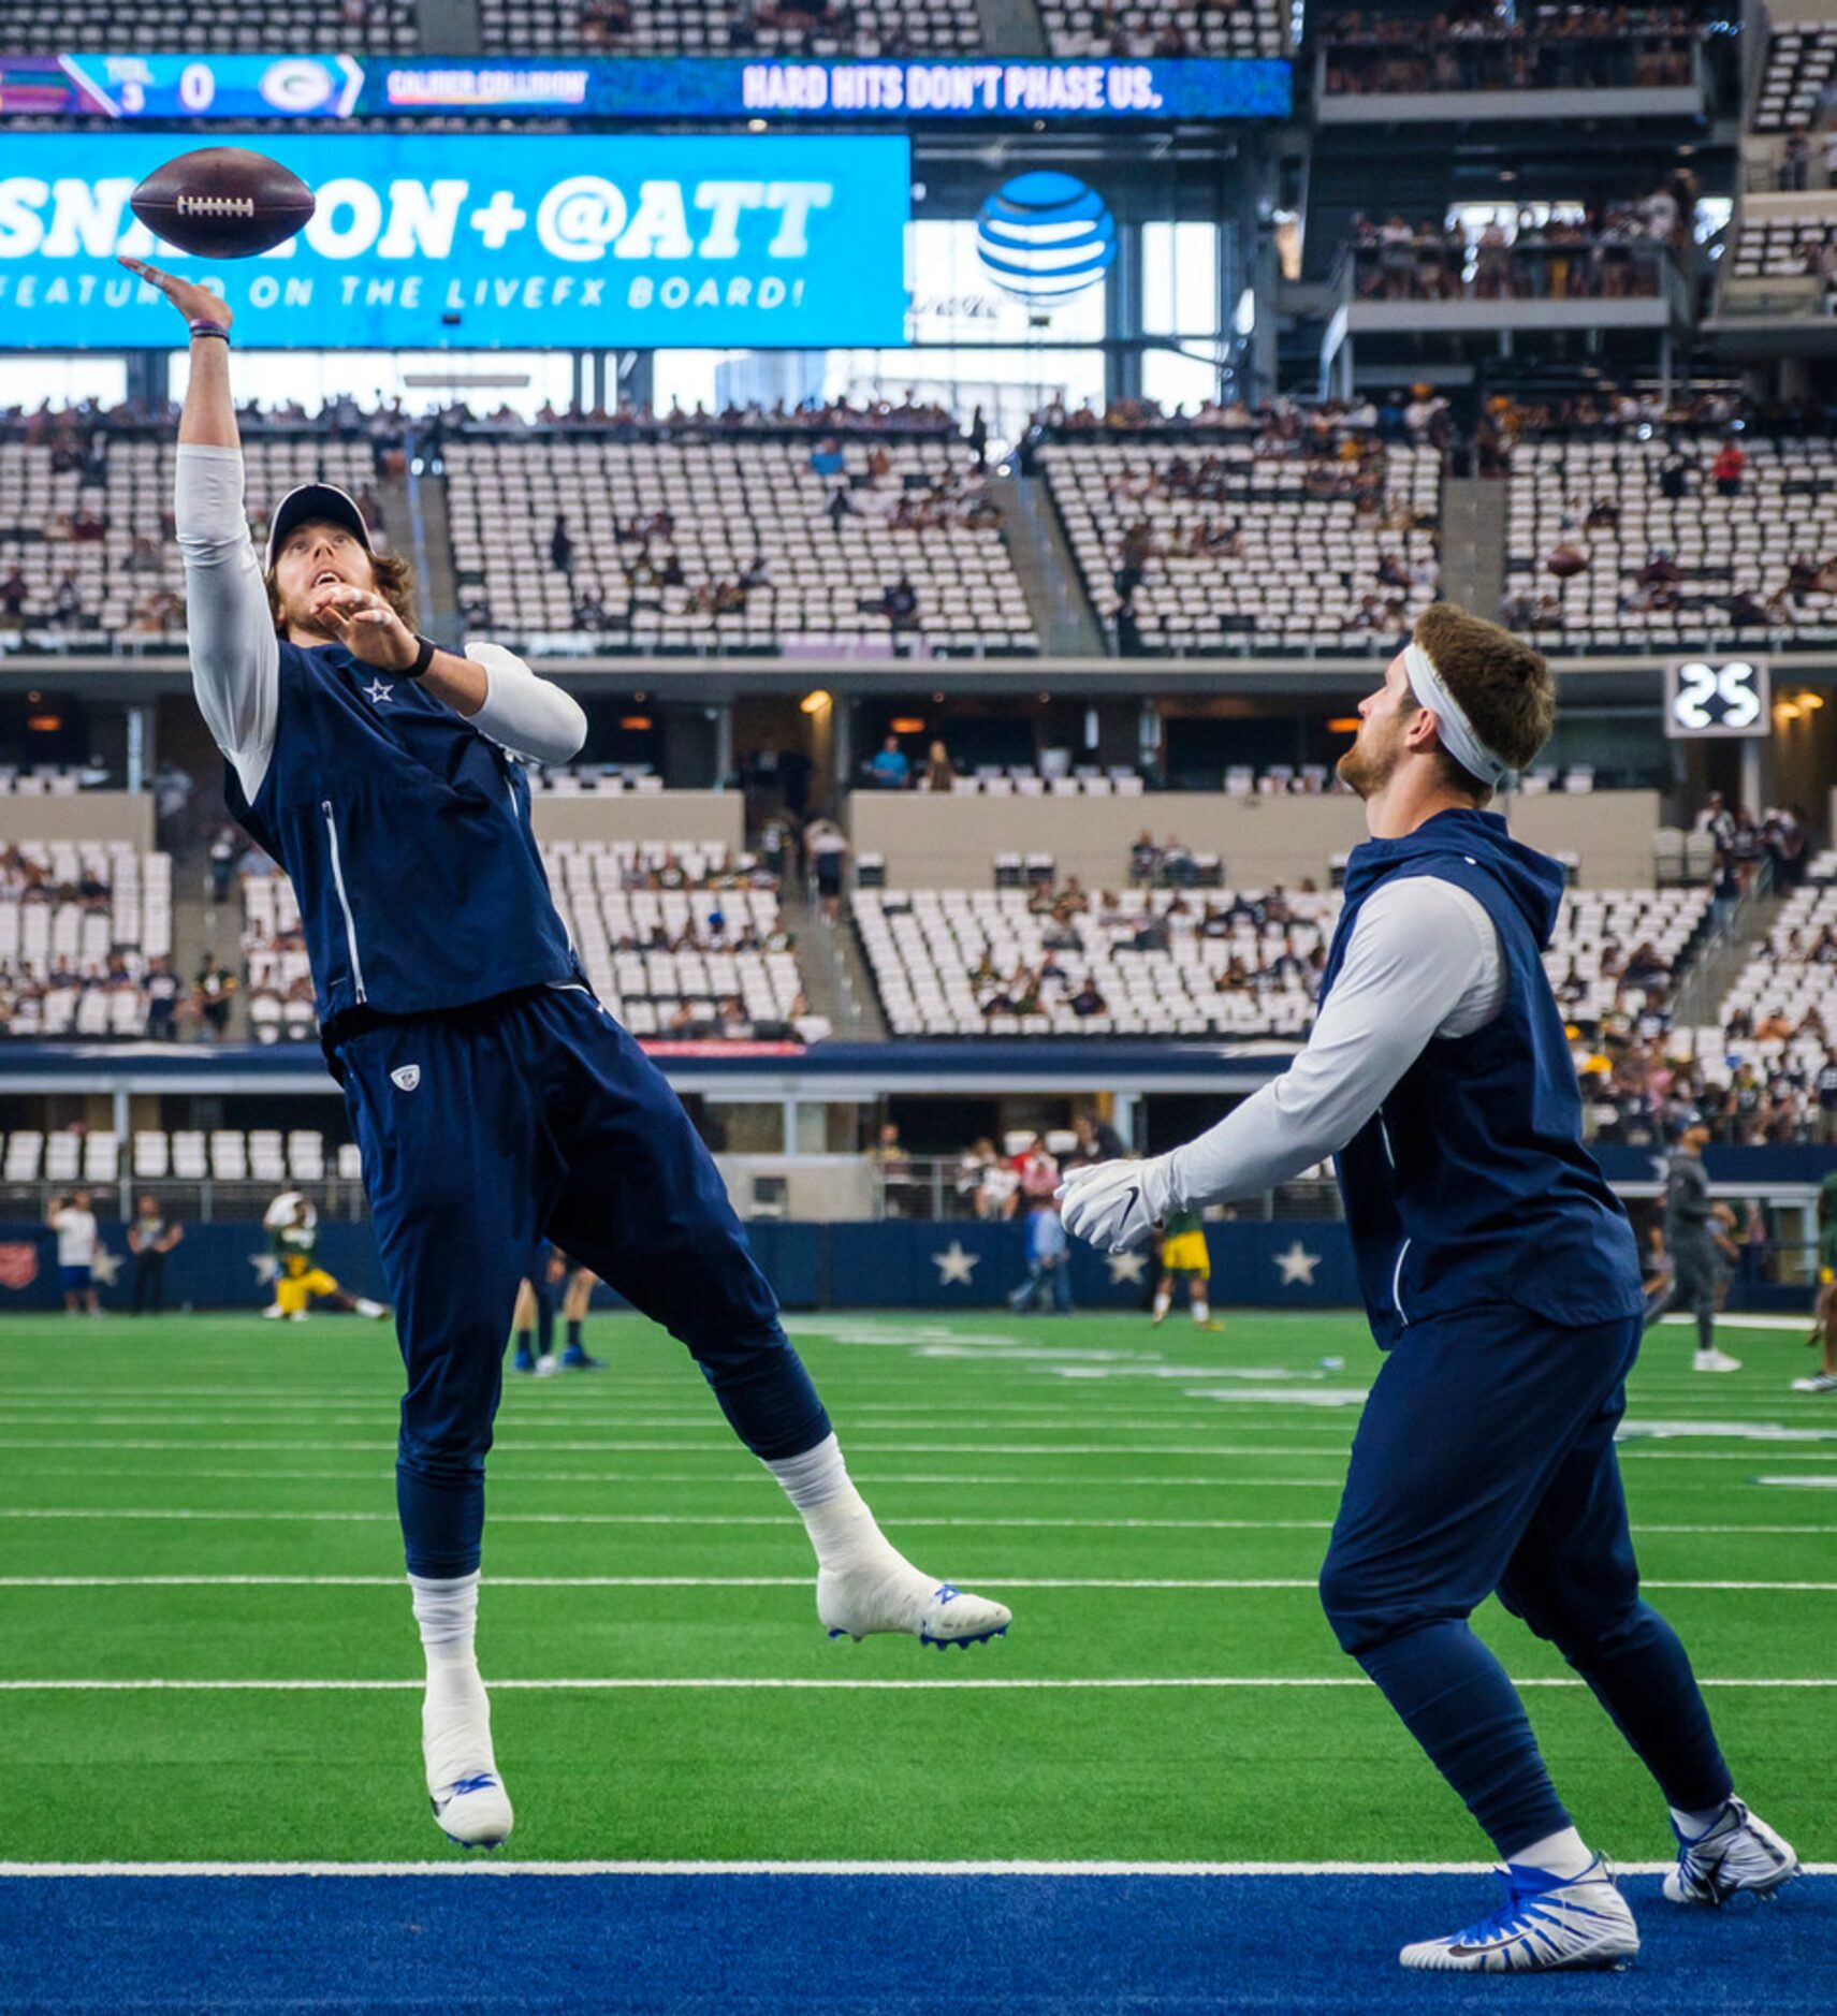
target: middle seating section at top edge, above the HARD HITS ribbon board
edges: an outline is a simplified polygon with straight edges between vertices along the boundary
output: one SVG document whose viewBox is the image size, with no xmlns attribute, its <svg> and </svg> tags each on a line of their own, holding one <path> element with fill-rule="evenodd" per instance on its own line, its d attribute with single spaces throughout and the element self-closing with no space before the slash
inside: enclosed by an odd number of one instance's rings
<svg viewBox="0 0 1837 2016">
<path fill-rule="evenodd" d="M 976 0 L 480 0 L 492 54 L 928 56 L 980 46 Z"/>
</svg>

